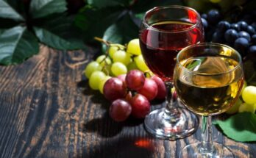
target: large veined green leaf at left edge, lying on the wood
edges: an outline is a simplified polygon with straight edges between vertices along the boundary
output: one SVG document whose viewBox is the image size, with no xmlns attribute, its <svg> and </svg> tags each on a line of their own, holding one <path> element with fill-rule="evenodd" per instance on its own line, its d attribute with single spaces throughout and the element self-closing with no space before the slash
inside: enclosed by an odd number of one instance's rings
<svg viewBox="0 0 256 158">
<path fill-rule="evenodd" d="M 4 30 L 0 35 L 0 64 L 11 65 L 24 62 L 38 54 L 38 41 L 26 27 L 15 26 Z"/>
</svg>

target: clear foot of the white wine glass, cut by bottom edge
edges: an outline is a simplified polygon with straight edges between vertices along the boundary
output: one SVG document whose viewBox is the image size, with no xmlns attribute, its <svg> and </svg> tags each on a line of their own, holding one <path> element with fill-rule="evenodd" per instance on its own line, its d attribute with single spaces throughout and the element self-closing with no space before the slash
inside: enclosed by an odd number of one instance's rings
<svg viewBox="0 0 256 158">
<path fill-rule="evenodd" d="M 193 143 L 188 146 L 182 148 L 182 151 L 179 153 L 179 158 L 197 158 L 197 157 L 205 157 L 205 158 L 233 158 L 235 157 L 230 148 L 219 144 L 213 143 L 212 151 L 202 151 L 202 142 Z M 201 151 L 200 151 L 201 150 Z"/>
</svg>

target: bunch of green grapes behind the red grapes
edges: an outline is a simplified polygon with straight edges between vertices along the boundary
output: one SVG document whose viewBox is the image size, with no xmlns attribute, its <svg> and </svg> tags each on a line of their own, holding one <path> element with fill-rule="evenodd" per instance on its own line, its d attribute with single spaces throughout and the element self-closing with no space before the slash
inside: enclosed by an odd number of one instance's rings
<svg viewBox="0 0 256 158">
<path fill-rule="evenodd" d="M 88 63 L 85 76 L 89 79 L 90 88 L 103 93 L 107 79 L 134 69 L 151 73 L 141 55 L 138 38 L 130 40 L 127 46 L 118 43 L 109 44 L 106 54 Z"/>
</svg>

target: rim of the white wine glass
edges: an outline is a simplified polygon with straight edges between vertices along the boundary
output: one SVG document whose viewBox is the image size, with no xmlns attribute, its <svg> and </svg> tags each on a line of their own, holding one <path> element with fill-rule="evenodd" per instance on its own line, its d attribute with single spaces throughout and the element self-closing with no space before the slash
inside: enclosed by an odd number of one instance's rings
<svg viewBox="0 0 256 158">
<path fill-rule="evenodd" d="M 182 54 L 183 51 L 187 51 L 188 49 L 192 49 L 192 48 L 198 47 L 198 46 L 222 46 L 222 47 L 225 47 L 227 49 L 230 49 L 231 51 L 235 52 L 235 54 L 238 55 L 238 60 L 239 60 L 238 65 L 235 65 L 235 67 L 231 68 L 229 71 L 225 71 L 225 72 L 221 72 L 221 73 L 201 73 L 201 72 L 191 71 L 190 69 L 185 68 L 183 65 L 181 65 L 181 63 L 179 62 L 179 56 L 180 56 L 180 54 Z M 197 44 L 193 44 L 191 46 L 187 46 L 184 49 L 182 49 L 181 51 L 179 51 L 179 53 L 177 54 L 176 61 L 177 61 L 177 64 L 179 65 L 179 67 L 182 68 L 184 71 L 188 71 L 188 73 L 194 73 L 194 74 L 198 74 L 198 75 L 201 75 L 201 76 L 218 76 L 218 75 L 227 74 L 227 73 L 230 73 L 232 71 L 235 71 L 236 69 L 238 69 L 242 65 L 242 58 L 241 58 L 241 55 L 238 53 L 238 51 L 236 51 L 235 49 L 233 49 L 230 46 L 227 46 L 227 45 L 224 45 L 224 44 L 221 44 L 221 43 L 197 43 Z"/>
</svg>

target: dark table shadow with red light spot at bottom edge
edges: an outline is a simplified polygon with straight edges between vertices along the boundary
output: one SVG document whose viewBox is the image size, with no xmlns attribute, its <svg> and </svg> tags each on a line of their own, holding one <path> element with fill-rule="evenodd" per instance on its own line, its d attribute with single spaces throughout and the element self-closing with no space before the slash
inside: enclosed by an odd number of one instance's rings
<svg viewBox="0 0 256 158">
<path fill-rule="evenodd" d="M 82 155 L 76 158 L 136 158 L 136 157 L 155 157 L 154 140 L 143 137 L 114 137 L 100 142 L 99 145 L 85 148 Z"/>
</svg>

